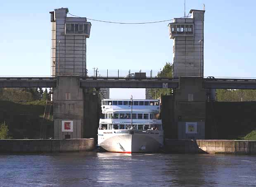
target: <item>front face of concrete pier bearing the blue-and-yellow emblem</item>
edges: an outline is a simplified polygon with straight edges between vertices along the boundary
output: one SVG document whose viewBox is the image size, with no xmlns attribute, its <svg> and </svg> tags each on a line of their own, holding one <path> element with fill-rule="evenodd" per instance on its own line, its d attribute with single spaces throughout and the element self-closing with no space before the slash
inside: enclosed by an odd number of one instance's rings
<svg viewBox="0 0 256 187">
<path fill-rule="evenodd" d="M 176 89 L 174 111 L 178 139 L 204 139 L 207 89 L 203 77 L 180 77 Z"/>
</svg>

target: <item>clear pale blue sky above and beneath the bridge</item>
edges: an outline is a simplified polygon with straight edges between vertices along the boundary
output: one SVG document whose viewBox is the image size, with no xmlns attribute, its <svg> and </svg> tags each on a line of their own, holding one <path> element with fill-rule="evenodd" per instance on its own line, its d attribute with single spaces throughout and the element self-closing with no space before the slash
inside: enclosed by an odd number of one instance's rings
<svg viewBox="0 0 256 187">
<path fill-rule="evenodd" d="M 71 14 L 123 22 L 159 21 L 184 15 L 183 0 L 97 0 L 1 2 L 0 76 L 50 76 L 50 14 L 68 7 Z M 186 12 L 202 9 L 204 76 L 256 77 L 254 24 L 256 1 L 186 0 Z M 150 70 L 172 62 L 168 22 L 119 25 L 91 21 L 87 40 L 87 68 Z M 125 71 L 124 71 L 125 70 Z M 114 89 L 112 98 L 144 98 L 143 90 Z"/>
</svg>

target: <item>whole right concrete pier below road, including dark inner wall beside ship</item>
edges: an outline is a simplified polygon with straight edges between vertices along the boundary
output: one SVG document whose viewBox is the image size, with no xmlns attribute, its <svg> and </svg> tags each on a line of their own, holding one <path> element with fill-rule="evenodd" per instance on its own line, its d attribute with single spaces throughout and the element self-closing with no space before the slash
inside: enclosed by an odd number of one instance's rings
<svg viewBox="0 0 256 187">
<path fill-rule="evenodd" d="M 165 137 L 204 139 L 207 91 L 203 77 L 180 77 L 173 96 L 162 97 Z"/>
</svg>

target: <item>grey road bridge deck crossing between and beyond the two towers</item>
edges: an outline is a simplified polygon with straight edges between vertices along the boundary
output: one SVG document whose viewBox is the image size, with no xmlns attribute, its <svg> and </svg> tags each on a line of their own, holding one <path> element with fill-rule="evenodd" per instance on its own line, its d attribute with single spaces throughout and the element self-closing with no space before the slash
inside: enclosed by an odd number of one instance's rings
<svg viewBox="0 0 256 187">
<path fill-rule="evenodd" d="M 29 88 L 57 86 L 58 78 L 55 77 L 0 77 L 0 87 Z M 82 88 L 178 88 L 179 80 L 170 78 L 146 79 L 118 78 L 118 77 L 81 77 Z M 256 79 L 231 79 L 231 78 L 204 78 L 203 87 L 207 89 L 256 89 Z"/>
</svg>

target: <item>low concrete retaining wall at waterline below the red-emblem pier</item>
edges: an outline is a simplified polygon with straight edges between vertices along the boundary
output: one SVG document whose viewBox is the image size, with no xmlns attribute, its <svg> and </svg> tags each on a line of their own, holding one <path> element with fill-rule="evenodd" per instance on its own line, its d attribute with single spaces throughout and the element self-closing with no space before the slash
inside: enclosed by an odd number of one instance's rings
<svg viewBox="0 0 256 187">
<path fill-rule="evenodd" d="M 95 149 L 94 138 L 0 140 L 1 152 L 75 152 Z"/>
</svg>

